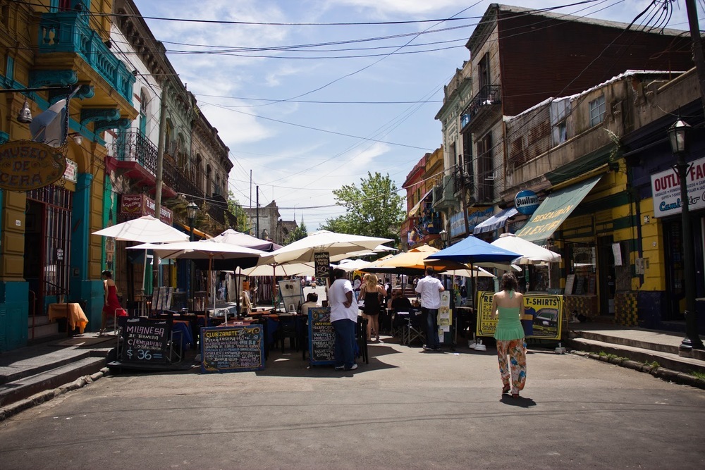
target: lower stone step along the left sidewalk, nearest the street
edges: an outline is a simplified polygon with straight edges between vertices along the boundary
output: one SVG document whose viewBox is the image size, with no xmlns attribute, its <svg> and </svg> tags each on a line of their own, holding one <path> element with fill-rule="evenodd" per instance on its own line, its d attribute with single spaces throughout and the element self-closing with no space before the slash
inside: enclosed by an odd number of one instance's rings
<svg viewBox="0 0 705 470">
<path fill-rule="evenodd" d="M 24 400 L 36 393 L 51 390 L 75 381 L 82 376 L 89 376 L 106 366 L 105 357 L 84 357 L 68 364 L 33 373 L 30 376 L 16 378 L 0 385 L 0 407 Z"/>
</svg>

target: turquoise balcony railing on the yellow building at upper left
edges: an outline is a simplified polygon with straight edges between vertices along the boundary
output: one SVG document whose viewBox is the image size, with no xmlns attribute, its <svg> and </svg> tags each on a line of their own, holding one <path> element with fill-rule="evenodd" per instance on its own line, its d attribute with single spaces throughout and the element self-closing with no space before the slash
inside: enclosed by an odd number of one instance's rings
<svg viewBox="0 0 705 470">
<path fill-rule="evenodd" d="M 135 76 L 88 25 L 85 11 L 42 13 L 39 21 L 39 53 L 73 52 L 96 70 L 130 105 Z"/>
</svg>

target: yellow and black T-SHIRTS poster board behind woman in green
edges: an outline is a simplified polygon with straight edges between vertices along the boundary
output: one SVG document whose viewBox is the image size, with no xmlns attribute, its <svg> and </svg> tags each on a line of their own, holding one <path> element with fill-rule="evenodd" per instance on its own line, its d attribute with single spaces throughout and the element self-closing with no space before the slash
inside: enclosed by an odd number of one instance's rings
<svg viewBox="0 0 705 470">
<path fill-rule="evenodd" d="M 492 318 L 492 296 L 494 292 L 477 292 L 477 331 L 479 337 L 494 336 L 497 321 Z M 563 320 L 563 296 L 549 294 L 525 294 L 522 323 L 528 331 L 527 338 L 559 340 Z M 531 318 L 529 318 L 529 316 Z"/>
</svg>

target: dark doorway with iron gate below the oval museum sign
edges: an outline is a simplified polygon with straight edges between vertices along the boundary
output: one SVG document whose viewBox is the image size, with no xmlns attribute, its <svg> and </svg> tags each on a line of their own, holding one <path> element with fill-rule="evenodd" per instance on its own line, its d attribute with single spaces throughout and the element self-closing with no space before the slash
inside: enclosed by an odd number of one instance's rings
<svg viewBox="0 0 705 470">
<path fill-rule="evenodd" d="M 44 315 L 53 302 L 68 302 L 73 194 L 56 186 L 27 192 L 25 263 L 30 315 Z"/>
</svg>

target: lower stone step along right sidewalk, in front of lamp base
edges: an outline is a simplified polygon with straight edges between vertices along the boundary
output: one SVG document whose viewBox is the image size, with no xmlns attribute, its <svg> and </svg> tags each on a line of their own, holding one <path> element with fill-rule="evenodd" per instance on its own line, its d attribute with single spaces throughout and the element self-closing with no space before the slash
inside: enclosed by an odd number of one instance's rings
<svg viewBox="0 0 705 470">
<path fill-rule="evenodd" d="M 657 362 L 659 366 L 673 371 L 692 373 L 705 373 L 705 361 L 692 357 L 680 357 L 678 350 L 673 352 L 663 352 L 655 349 L 623 345 L 615 342 L 605 342 L 591 340 L 587 338 L 573 338 L 569 340 L 568 346 L 573 350 L 587 352 L 605 352 L 615 354 L 618 357 L 627 357 L 637 362 Z"/>
</svg>

